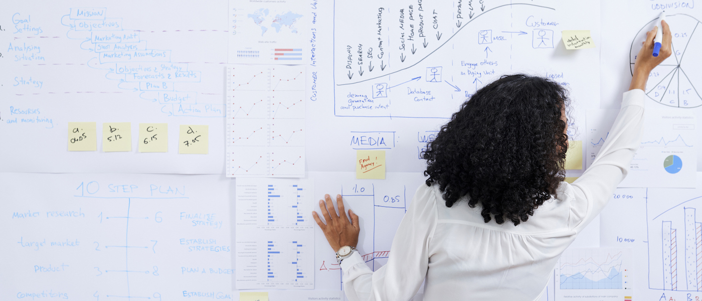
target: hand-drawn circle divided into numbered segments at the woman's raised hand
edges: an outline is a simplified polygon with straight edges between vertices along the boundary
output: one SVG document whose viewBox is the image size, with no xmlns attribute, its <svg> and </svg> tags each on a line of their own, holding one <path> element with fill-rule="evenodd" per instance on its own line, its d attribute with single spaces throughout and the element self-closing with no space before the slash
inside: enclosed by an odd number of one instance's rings
<svg viewBox="0 0 702 301">
<path fill-rule="evenodd" d="M 634 62 L 646 32 L 653 29 L 658 18 L 651 20 L 637 33 L 630 49 L 630 69 L 634 73 Z M 673 34 L 673 55 L 651 71 L 646 84 L 646 95 L 655 102 L 670 107 L 702 106 L 702 22 L 691 15 L 677 13 L 665 16 Z"/>
</svg>

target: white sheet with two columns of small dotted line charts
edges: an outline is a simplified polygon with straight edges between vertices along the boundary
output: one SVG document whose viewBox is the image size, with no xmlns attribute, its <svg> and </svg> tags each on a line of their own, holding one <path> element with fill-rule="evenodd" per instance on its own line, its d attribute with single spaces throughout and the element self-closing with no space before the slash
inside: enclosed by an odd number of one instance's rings
<svg viewBox="0 0 702 301">
<path fill-rule="evenodd" d="M 227 177 L 305 176 L 304 74 L 304 66 L 227 68 Z"/>
</svg>

